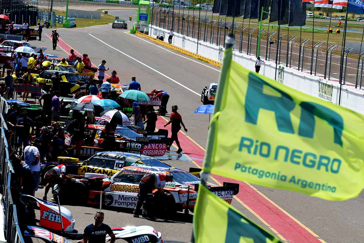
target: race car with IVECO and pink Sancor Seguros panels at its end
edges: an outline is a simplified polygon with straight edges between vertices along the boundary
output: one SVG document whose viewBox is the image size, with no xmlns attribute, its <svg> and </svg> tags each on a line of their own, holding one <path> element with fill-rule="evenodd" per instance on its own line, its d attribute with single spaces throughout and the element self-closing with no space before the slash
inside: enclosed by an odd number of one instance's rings
<svg viewBox="0 0 364 243">
<path fill-rule="evenodd" d="M 130 122 L 129 122 L 130 123 Z M 131 124 L 130 124 L 131 125 Z M 86 125 L 85 138 L 80 158 L 88 158 L 97 152 L 108 150 L 103 148 L 105 138 L 105 126 L 103 125 Z M 142 137 L 140 140 L 137 137 Z M 134 140 L 135 138 L 135 140 Z M 118 126 L 115 132 L 115 141 L 119 143 L 119 151 L 144 154 L 149 156 L 163 156 L 167 150 L 168 139 L 165 140 L 151 140 L 147 137 L 133 132 L 128 128 Z M 76 156 L 76 145 L 72 144 L 72 138 L 66 134 L 64 145 L 71 157 Z"/>
</svg>

